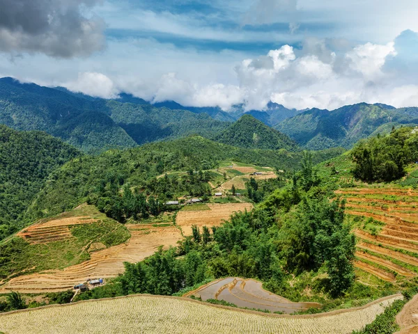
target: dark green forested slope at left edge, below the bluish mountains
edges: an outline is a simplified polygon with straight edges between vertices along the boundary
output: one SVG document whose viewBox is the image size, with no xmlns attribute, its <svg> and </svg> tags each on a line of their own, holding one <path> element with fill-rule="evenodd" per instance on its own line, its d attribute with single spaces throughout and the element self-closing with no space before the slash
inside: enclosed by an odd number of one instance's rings
<svg viewBox="0 0 418 334">
<path fill-rule="evenodd" d="M 43 132 L 0 125 L 0 240 L 20 225 L 49 173 L 80 154 Z"/>
</svg>

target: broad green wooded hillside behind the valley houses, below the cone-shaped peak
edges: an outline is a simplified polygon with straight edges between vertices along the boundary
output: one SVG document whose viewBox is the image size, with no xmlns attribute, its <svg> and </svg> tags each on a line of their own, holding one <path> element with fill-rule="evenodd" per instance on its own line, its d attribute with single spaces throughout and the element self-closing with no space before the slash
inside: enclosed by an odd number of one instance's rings
<svg viewBox="0 0 418 334">
<path fill-rule="evenodd" d="M 313 161 L 319 163 L 341 152 L 341 149 L 315 152 Z M 302 156 L 302 152 L 286 150 L 236 148 L 200 136 L 150 143 L 130 150 L 110 150 L 99 156 L 73 159 L 52 173 L 47 186 L 29 208 L 28 217 L 34 220 L 59 214 L 85 201 L 96 205 L 114 205 L 121 200 L 119 191 L 125 185 L 134 186 L 164 201 L 170 199 L 185 182 L 166 180 L 164 177 L 156 180 L 158 175 L 167 172 L 210 170 L 219 167 L 225 160 L 294 170 L 300 168 Z M 193 182 L 187 180 L 189 184 Z M 203 195 L 199 191 L 191 195 Z M 114 210 L 116 213 L 111 215 L 118 215 L 117 208 Z"/>
</svg>

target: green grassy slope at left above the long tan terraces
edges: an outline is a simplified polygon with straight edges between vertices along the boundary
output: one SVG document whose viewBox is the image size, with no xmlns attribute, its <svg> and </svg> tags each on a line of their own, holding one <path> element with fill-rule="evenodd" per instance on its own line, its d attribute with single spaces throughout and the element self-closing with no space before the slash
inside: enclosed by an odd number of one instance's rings
<svg viewBox="0 0 418 334">
<path fill-rule="evenodd" d="M 63 269 L 88 260 L 87 246 L 93 242 L 109 247 L 121 244 L 130 237 L 124 225 L 107 218 L 93 206 L 74 209 L 59 218 L 68 216 L 91 216 L 99 221 L 73 225 L 70 227 L 73 238 L 47 244 L 29 244 L 20 237 L 13 237 L 0 246 L 0 280 L 48 269 Z"/>
</svg>

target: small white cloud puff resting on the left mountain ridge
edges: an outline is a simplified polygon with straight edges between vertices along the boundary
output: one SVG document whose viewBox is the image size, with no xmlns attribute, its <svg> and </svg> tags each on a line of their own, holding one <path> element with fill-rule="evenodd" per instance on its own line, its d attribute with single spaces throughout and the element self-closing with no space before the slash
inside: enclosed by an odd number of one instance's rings
<svg viewBox="0 0 418 334">
<path fill-rule="evenodd" d="M 118 88 L 109 77 L 96 72 L 79 73 L 77 80 L 64 83 L 63 86 L 76 93 L 106 99 L 115 98 L 119 93 Z"/>
</svg>

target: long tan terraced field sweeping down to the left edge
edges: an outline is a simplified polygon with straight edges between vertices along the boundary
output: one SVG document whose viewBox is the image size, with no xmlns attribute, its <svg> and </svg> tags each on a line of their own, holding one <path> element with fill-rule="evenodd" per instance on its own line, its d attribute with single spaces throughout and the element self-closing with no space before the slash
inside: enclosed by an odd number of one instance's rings
<svg viewBox="0 0 418 334">
<path fill-rule="evenodd" d="M 88 278 L 111 278 L 125 270 L 123 262 L 139 262 L 153 255 L 159 246 L 176 246 L 183 239 L 174 225 L 126 225 L 131 238 L 125 244 L 91 253 L 91 259 L 63 270 L 45 271 L 11 279 L 1 292 L 55 292 L 70 289 Z"/>
</svg>

